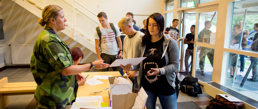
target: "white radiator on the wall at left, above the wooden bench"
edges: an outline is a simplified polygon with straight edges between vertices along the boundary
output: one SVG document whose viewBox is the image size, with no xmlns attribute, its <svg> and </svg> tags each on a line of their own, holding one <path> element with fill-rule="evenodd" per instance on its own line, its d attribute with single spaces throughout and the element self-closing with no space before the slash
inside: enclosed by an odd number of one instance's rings
<svg viewBox="0 0 258 109">
<path fill-rule="evenodd" d="M 12 64 L 30 64 L 34 44 L 11 44 Z"/>
</svg>

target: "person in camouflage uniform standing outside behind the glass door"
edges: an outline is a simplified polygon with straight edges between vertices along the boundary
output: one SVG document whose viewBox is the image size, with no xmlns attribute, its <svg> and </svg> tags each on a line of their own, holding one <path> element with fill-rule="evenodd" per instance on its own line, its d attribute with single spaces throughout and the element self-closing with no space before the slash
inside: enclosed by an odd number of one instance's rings
<svg viewBox="0 0 258 109">
<path fill-rule="evenodd" d="M 203 42 L 203 38 L 207 37 L 209 38 L 209 42 L 210 43 L 210 37 L 211 37 L 211 30 L 209 30 L 211 28 L 211 21 L 205 21 L 204 22 L 204 29 L 201 30 L 201 32 L 199 33 L 198 36 L 198 42 Z M 200 50 L 200 54 L 199 54 L 199 67 L 201 70 L 201 75 L 205 75 L 204 73 L 204 63 L 205 63 L 205 56 L 207 55 L 211 66 L 213 67 L 213 57 L 214 57 L 214 49 L 213 48 L 206 48 L 206 47 L 200 47 L 197 52 Z"/>
</svg>

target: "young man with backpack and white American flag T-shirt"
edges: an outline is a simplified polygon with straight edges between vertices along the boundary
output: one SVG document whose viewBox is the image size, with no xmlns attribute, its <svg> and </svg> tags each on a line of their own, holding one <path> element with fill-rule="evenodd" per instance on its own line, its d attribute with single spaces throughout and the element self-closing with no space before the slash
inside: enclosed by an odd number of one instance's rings
<svg viewBox="0 0 258 109">
<path fill-rule="evenodd" d="M 98 19 L 101 24 L 99 28 L 96 28 L 95 31 L 95 45 L 96 45 L 96 53 L 98 56 L 98 60 L 104 60 L 104 63 L 111 64 L 114 62 L 117 58 L 118 54 L 118 47 L 119 47 L 119 58 L 123 58 L 123 48 L 122 48 L 122 41 L 120 39 L 120 31 L 119 28 L 116 25 L 113 25 L 112 23 L 108 23 L 108 17 L 106 13 L 100 12 L 98 14 Z M 114 27 L 114 30 L 112 30 Z M 98 34 L 101 34 L 101 37 L 99 37 Z M 100 51 L 101 50 L 101 51 Z M 118 67 L 112 67 L 113 71 L 120 71 L 120 66 Z M 101 71 L 108 71 L 108 68 L 106 69 L 101 69 Z"/>
</svg>

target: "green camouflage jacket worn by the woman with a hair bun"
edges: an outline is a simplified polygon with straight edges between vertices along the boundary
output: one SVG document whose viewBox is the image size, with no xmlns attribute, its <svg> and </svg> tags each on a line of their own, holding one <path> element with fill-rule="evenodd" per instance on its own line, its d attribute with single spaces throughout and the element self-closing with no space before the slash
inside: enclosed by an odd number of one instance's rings
<svg viewBox="0 0 258 109">
<path fill-rule="evenodd" d="M 46 26 L 39 35 L 30 60 L 30 70 L 37 83 L 35 99 L 51 106 L 61 106 L 75 99 L 75 75 L 64 76 L 61 70 L 74 65 L 66 43 Z"/>
</svg>

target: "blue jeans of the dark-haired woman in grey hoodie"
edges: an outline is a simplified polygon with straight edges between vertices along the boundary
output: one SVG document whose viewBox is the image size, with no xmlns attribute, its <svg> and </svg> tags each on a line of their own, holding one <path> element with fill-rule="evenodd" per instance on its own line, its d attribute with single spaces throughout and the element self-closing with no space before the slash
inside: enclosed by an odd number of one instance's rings
<svg viewBox="0 0 258 109">
<path fill-rule="evenodd" d="M 148 92 L 146 90 L 145 92 L 148 95 L 148 99 L 146 102 L 147 109 L 155 109 L 157 97 L 159 97 L 159 101 L 163 109 L 177 109 L 176 93 L 166 96 L 166 95 L 160 95 L 153 92 Z"/>
</svg>

